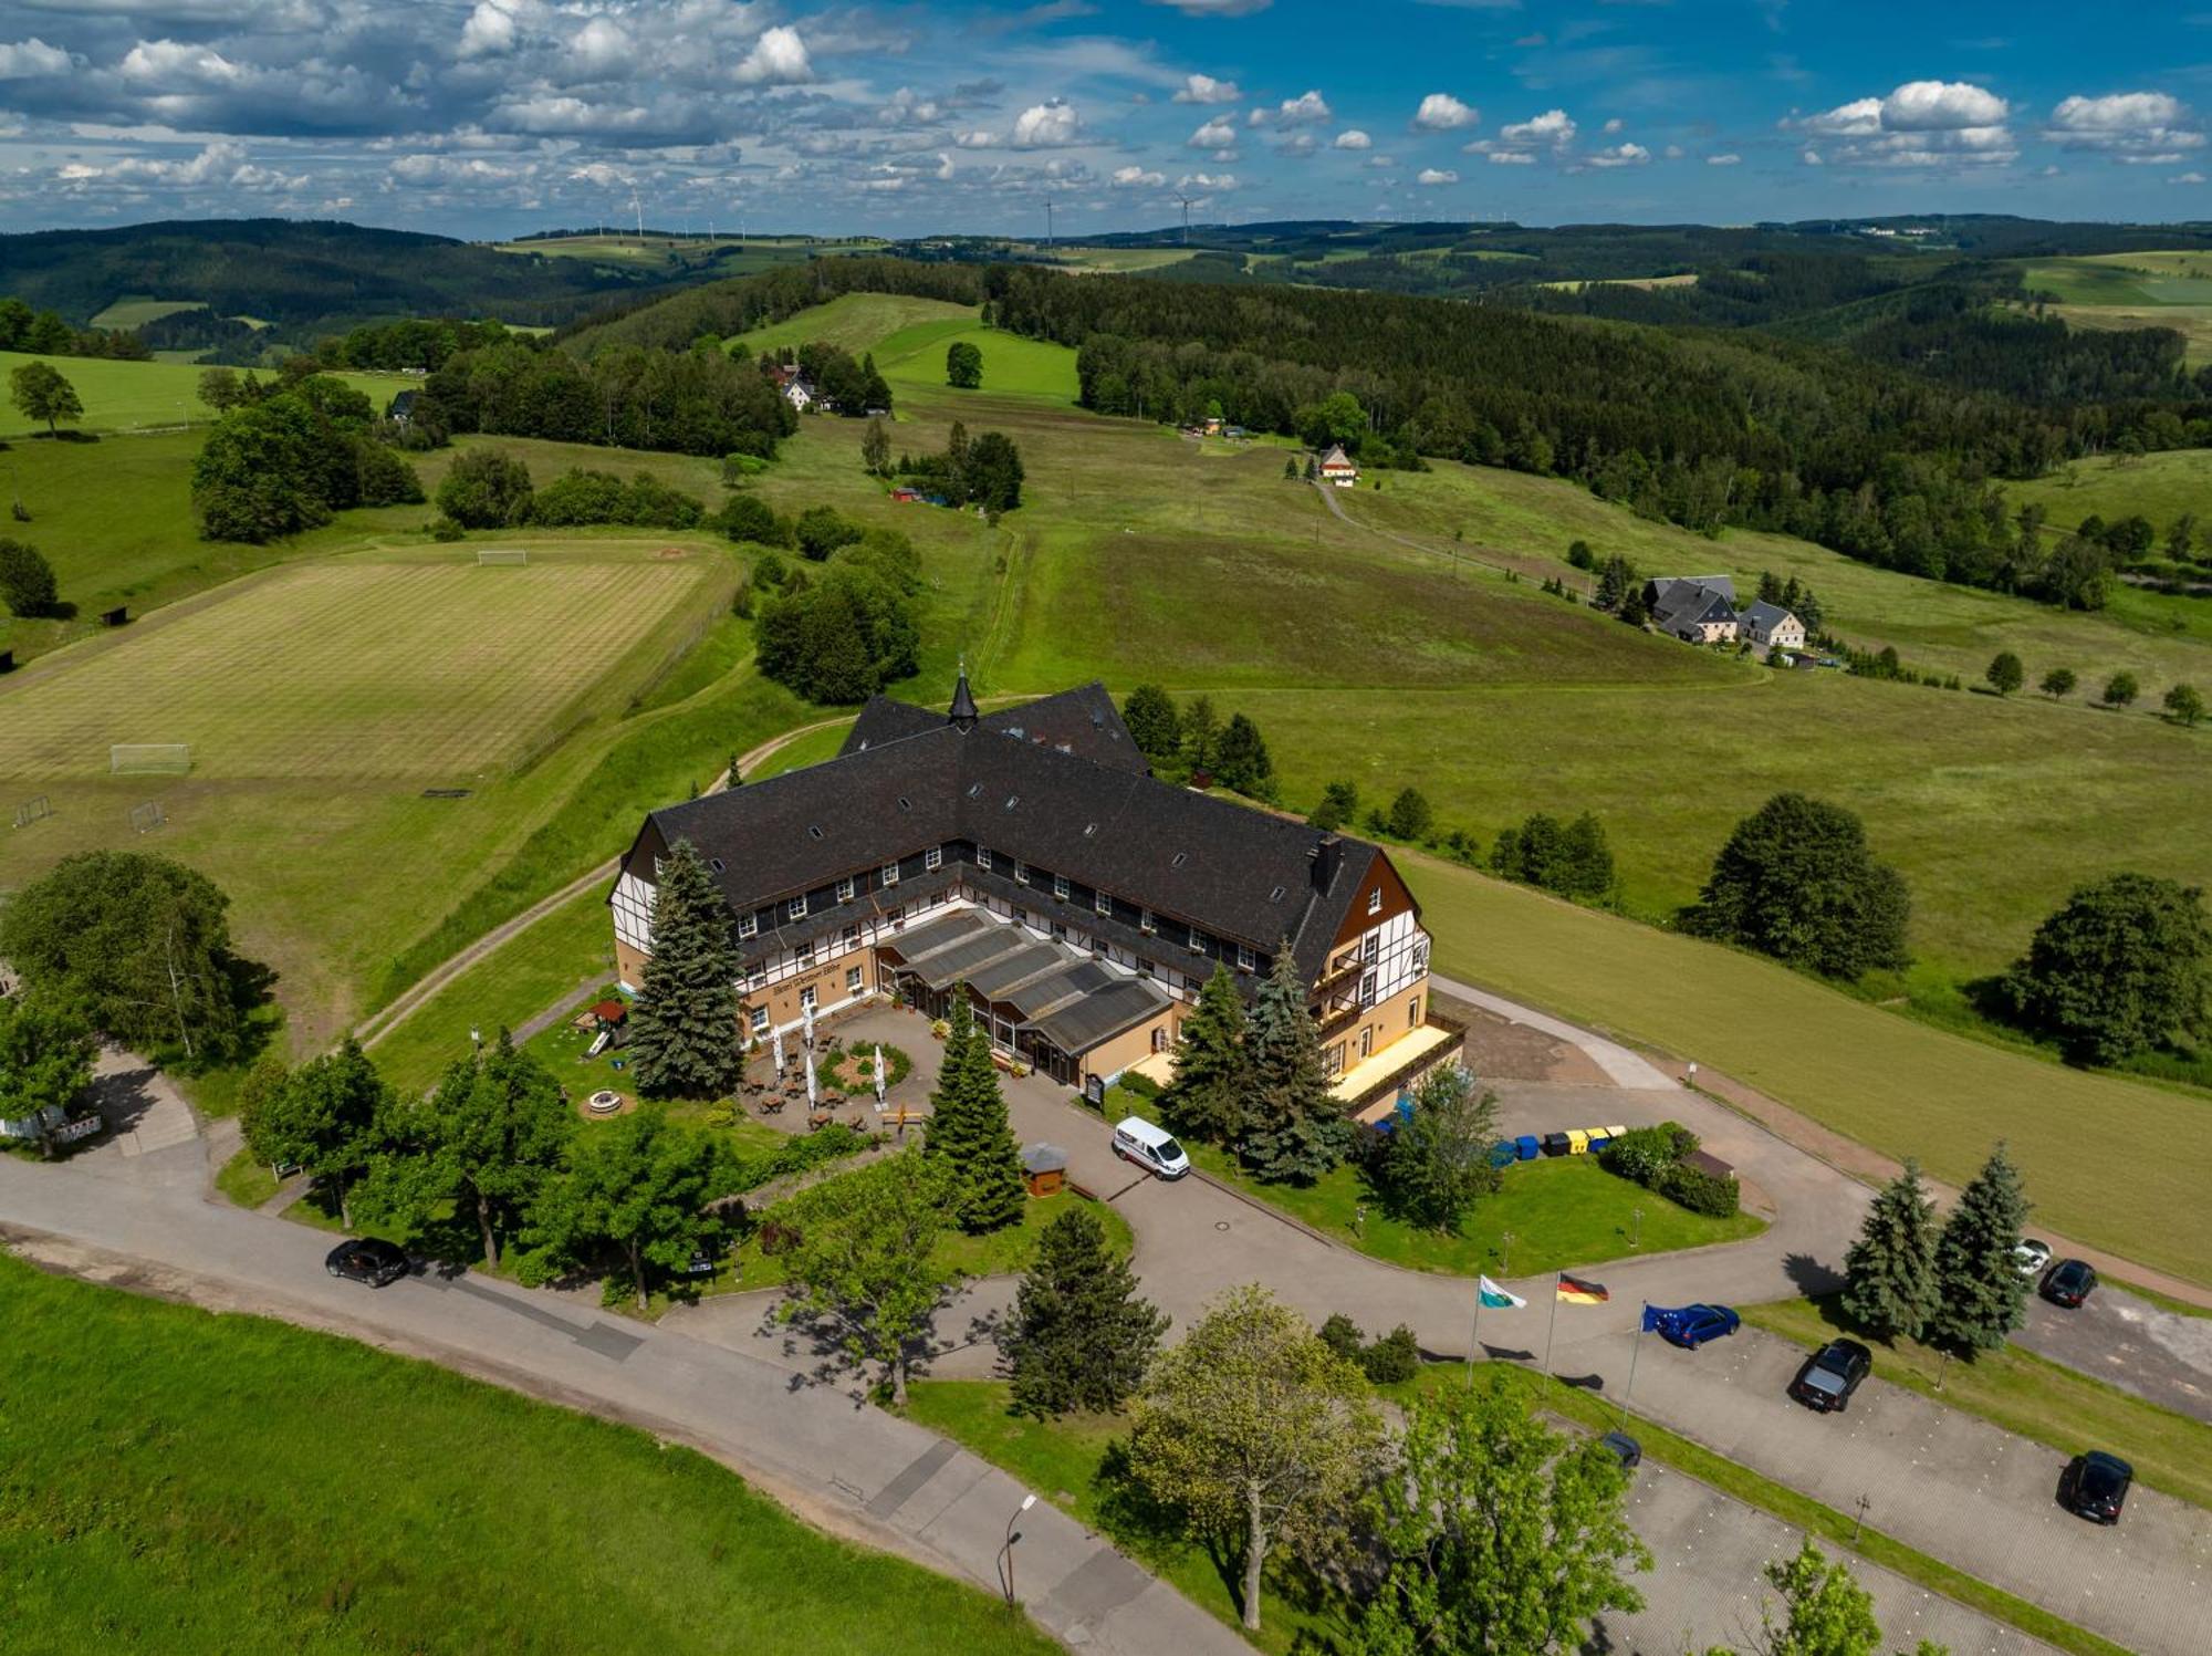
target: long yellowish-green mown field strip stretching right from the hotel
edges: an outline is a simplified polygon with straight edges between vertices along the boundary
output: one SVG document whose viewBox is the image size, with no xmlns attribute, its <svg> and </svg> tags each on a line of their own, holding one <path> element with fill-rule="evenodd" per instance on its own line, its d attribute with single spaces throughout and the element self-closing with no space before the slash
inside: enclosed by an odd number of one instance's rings
<svg viewBox="0 0 2212 1656">
<path fill-rule="evenodd" d="M 1699 1058 L 1964 1184 L 2004 1138 L 2037 1218 L 2212 1282 L 2201 1094 L 2066 1069 L 1900 1018 L 1772 961 L 1575 908 L 1431 857 L 1398 868 L 1436 970 L 1593 1029 Z M 1714 1016 L 1723 1007 L 1723 1016 Z M 2084 1134 L 2081 1122 L 2097 1122 Z M 2154 1156 L 2141 1151 L 2157 1145 Z M 2126 1191 L 2126 1200 L 2112 1200 Z"/>
</svg>

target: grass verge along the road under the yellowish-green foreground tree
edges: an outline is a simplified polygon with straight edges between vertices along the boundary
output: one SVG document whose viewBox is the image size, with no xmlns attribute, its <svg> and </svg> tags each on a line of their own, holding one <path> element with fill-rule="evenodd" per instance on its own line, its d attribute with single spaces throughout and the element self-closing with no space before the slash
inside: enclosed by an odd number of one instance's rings
<svg viewBox="0 0 2212 1656">
<path fill-rule="evenodd" d="M 1115 1512 L 1110 1479 L 1099 1474 L 1115 1443 L 1128 1435 L 1126 1419 L 1068 1415 L 1033 1421 L 1009 1415 L 1006 1404 L 1006 1384 L 998 1379 L 916 1379 L 907 1386 L 909 1419 L 1022 1479 L 1062 1512 L 1104 1532 L 1194 1605 L 1243 1632 L 1241 1581 L 1232 1563 L 1217 1563 L 1197 1543 L 1144 1534 Z M 1332 1649 L 1347 1632 L 1343 1612 L 1303 1601 L 1305 1592 L 1285 1592 L 1281 1574 L 1270 1570 L 1261 1587 L 1261 1629 L 1250 1636 L 1252 1643 L 1279 1654 Z"/>
</svg>

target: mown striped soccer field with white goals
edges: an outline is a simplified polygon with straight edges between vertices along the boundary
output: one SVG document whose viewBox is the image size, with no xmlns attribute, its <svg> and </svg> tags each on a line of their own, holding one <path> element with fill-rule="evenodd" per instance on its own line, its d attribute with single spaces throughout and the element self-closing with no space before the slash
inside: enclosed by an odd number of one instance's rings
<svg viewBox="0 0 2212 1656">
<path fill-rule="evenodd" d="M 535 757 L 633 653 L 675 653 L 703 558 L 283 569 L 0 693 L 0 777 L 188 742 L 201 777 L 469 779 Z M 703 615 L 699 618 L 703 624 Z"/>
</svg>

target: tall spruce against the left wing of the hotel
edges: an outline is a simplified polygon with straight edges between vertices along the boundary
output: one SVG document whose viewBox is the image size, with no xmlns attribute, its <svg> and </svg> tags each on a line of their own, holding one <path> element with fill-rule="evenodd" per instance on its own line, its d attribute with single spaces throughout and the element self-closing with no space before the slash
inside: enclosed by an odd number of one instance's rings
<svg viewBox="0 0 2212 1656">
<path fill-rule="evenodd" d="M 653 959 L 630 1007 L 639 1091 L 717 1098 L 737 1080 L 737 948 L 730 905 L 699 852 L 679 839 L 653 894 Z"/>
</svg>

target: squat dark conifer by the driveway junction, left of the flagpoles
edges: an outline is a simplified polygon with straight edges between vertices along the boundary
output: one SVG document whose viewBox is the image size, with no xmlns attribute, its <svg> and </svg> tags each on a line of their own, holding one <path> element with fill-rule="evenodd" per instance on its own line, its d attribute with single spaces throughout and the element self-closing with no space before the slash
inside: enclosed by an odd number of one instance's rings
<svg viewBox="0 0 2212 1656">
<path fill-rule="evenodd" d="M 1037 1238 L 1002 1342 L 1015 1412 L 1121 1408 L 1166 1331 L 1166 1313 L 1137 1297 L 1137 1277 L 1106 1246 L 1106 1227 L 1091 1204 L 1071 1207 Z"/>
</svg>

